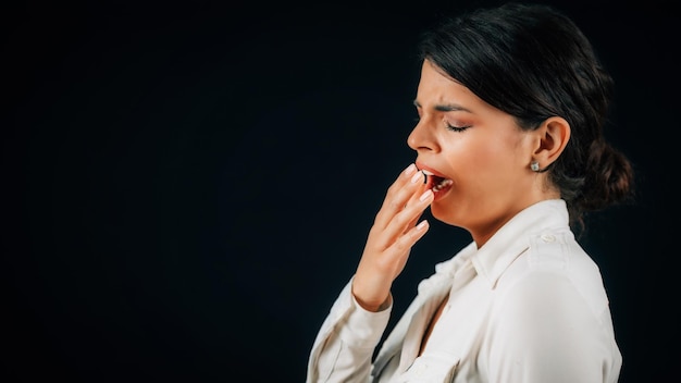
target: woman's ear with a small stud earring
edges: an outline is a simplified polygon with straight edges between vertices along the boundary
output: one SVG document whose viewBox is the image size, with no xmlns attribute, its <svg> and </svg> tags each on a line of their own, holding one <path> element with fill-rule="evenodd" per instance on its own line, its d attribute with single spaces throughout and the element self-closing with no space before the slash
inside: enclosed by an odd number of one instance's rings
<svg viewBox="0 0 681 383">
<path fill-rule="evenodd" d="M 564 118 L 546 119 L 535 131 L 538 135 L 538 146 L 532 159 L 538 161 L 541 169 L 546 169 L 562 153 L 570 139 L 570 124 Z"/>
</svg>

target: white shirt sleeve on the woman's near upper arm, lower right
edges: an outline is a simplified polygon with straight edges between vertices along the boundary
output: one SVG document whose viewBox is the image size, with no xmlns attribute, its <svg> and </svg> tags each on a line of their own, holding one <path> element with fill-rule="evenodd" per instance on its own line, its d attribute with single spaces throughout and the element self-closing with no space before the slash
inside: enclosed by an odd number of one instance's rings
<svg viewBox="0 0 681 383">
<path fill-rule="evenodd" d="M 488 339 L 490 382 L 603 383 L 618 375 L 609 308 L 594 310 L 570 277 L 533 273 L 503 299 Z"/>
</svg>

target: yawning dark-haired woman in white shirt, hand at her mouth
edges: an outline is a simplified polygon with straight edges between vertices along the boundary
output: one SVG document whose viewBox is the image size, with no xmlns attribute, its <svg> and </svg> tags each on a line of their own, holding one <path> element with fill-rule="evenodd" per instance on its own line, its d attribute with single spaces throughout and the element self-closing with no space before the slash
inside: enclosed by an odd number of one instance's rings
<svg viewBox="0 0 681 383">
<path fill-rule="evenodd" d="M 416 162 L 387 190 L 307 382 L 617 382 L 608 298 L 575 240 L 584 213 L 631 196 L 632 166 L 603 135 L 611 78 L 545 5 L 461 15 L 420 48 Z M 472 242 L 421 282 L 373 359 L 428 207 Z"/>
</svg>

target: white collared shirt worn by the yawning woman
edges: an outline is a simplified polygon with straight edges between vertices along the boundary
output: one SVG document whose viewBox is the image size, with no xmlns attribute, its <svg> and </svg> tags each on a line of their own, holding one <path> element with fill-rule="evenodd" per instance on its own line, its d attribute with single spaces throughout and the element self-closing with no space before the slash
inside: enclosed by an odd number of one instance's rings
<svg viewBox="0 0 681 383">
<path fill-rule="evenodd" d="M 471 243 L 437 264 L 373 361 L 392 306 L 367 311 L 350 285 L 317 335 L 307 383 L 618 381 L 622 358 L 603 279 L 561 199 L 527 208 L 480 249 Z"/>
</svg>

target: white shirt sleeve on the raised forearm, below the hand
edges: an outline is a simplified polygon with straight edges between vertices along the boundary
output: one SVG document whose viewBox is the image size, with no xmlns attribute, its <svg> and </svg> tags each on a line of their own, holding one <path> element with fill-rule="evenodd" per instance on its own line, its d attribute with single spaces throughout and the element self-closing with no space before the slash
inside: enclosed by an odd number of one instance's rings
<svg viewBox="0 0 681 383">
<path fill-rule="evenodd" d="M 371 359 L 387 326 L 392 297 L 384 310 L 367 311 L 355 300 L 351 285 L 350 280 L 317 334 L 306 383 L 366 383 L 370 380 Z"/>
</svg>

